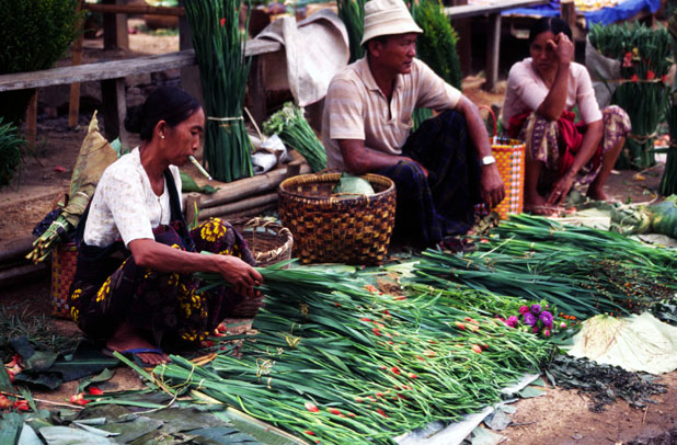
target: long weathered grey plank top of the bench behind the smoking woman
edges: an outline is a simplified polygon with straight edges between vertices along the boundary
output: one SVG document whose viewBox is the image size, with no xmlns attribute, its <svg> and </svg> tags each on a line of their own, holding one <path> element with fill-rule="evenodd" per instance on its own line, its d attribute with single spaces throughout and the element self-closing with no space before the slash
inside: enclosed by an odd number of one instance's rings
<svg viewBox="0 0 677 445">
<path fill-rule="evenodd" d="M 245 47 L 248 56 L 279 50 L 278 42 L 254 39 Z M 167 53 L 134 59 L 110 60 L 85 64 L 77 67 L 59 67 L 41 71 L 18 72 L 0 76 L 0 91 L 24 90 L 28 88 L 50 87 L 72 82 L 89 82 L 94 80 L 124 78 L 133 75 L 164 71 L 196 65 L 195 52 Z"/>
</svg>

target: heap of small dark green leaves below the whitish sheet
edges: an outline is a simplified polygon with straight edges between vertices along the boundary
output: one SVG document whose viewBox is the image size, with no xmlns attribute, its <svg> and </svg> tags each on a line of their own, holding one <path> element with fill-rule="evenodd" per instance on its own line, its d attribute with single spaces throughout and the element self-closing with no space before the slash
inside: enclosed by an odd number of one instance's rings
<svg viewBox="0 0 677 445">
<path fill-rule="evenodd" d="M 651 374 L 631 373 L 587 358 L 558 355 L 543 370 L 552 385 L 588 395 L 588 409 L 593 412 L 605 411 L 605 406 L 618 397 L 633 408 L 644 408 L 646 403 L 655 403 L 651 396 L 667 392 L 665 385 L 654 383 Z"/>
</svg>

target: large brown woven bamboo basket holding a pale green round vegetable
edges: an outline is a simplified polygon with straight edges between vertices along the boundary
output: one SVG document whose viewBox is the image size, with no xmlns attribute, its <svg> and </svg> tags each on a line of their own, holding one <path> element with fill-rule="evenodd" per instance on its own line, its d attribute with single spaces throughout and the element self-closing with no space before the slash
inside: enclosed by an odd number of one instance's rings
<svg viewBox="0 0 677 445">
<path fill-rule="evenodd" d="M 303 174 L 279 184 L 279 218 L 294 235 L 294 254 L 303 263 L 380 264 L 394 226 L 394 183 L 366 174 L 374 195 L 336 195 L 340 178 Z"/>
</svg>

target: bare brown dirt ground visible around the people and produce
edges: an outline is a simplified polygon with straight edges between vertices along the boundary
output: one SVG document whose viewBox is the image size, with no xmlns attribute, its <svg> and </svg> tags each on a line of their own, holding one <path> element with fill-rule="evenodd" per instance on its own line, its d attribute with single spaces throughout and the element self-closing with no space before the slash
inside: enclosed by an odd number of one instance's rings
<svg viewBox="0 0 677 445">
<path fill-rule="evenodd" d="M 177 49 L 176 36 L 148 36 L 130 34 L 130 46 L 135 54 L 157 54 Z M 101 54 L 101 41 L 85 42 L 85 57 Z M 97 53 L 99 52 L 99 53 Z M 122 56 L 128 56 L 123 54 Z M 505 82 L 494 93 L 480 89 L 481 77 L 464 80 L 463 92 L 478 104 L 501 104 Z M 72 167 L 89 122 L 81 115 L 80 127 L 67 128 L 67 116 L 42 115 L 38 122 L 37 144 L 26 155 L 22 174 L 18 182 L 0 190 L 0 252 L 8 243 L 31 236 L 31 231 L 68 189 Z M 622 202 L 650 202 L 661 178 L 661 168 L 642 172 L 613 172 L 607 185 L 607 193 Z M 26 279 L 0 290 L 0 305 L 26 306 L 28 313 L 50 313 L 49 277 L 47 274 Z M 56 320 L 60 332 L 77 334 L 77 328 L 65 320 Z M 538 398 L 524 399 L 516 403 L 517 412 L 513 424 L 500 432 L 506 436 L 503 443 L 519 445 L 542 444 L 623 444 L 635 437 L 652 437 L 677 426 L 677 372 L 662 376 L 668 392 L 656 396 L 656 404 L 645 410 L 632 409 L 624 401 L 618 401 L 603 413 L 587 409 L 587 399 L 576 391 L 546 388 Z M 139 386 L 136 374 L 118 369 L 107 390 L 135 388 Z M 65 402 L 74 393 L 77 383 L 67 383 L 58 391 L 37 392 L 37 399 Z"/>
</svg>

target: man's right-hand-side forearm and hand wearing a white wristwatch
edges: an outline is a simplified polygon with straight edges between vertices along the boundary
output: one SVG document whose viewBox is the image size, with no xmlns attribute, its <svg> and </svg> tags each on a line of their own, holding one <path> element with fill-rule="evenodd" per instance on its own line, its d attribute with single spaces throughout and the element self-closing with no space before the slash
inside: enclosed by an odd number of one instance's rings
<svg viewBox="0 0 677 445">
<path fill-rule="evenodd" d="M 468 98 L 461 95 L 456 105 L 456 110 L 466 116 L 470 141 L 472 146 L 475 147 L 479 159 L 485 156 L 492 156 L 489 134 L 486 133 L 484 121 L 478 107 L 470 102 Z M 505 197 L 505 187 L 495 162 L 489 166 L 482 166 L 481 187 L 480 193 L 482 195 L 482 201 L 484 201 L 484 204 L 486 204 L 489 208 L 498 205 Z"/>
</svg>

